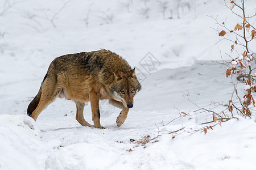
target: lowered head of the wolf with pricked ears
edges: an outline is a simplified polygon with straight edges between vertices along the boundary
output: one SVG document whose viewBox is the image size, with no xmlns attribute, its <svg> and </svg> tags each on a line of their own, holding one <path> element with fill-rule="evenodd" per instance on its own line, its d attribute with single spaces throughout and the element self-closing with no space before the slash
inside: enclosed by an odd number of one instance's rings
<svg viewBox="0 0 256 170">
<path fill-rule="evenodd" d="M 141 90 L 135 68 L 128 73 L 113 73 L 113 76 L 113 83 L 110 86 L 113 99 L 122 102 L 126 108 L 132 108 L 134 96 Z"/>
</svg>

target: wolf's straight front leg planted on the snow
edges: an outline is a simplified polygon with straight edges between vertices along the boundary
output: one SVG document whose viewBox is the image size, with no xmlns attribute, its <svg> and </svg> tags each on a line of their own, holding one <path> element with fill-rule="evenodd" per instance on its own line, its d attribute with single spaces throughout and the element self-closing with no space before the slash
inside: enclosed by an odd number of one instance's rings
<svg viewBox="0 0 256 170">
<path fill-rule="evenodd" d="M 100 97 L 97 95 L 96 92 L 92 91 L 90 92 L 90 107 L 92 108 L 92 120 L 94 122 L 94 128 L 100 128 L 105 129 L 103 126 L 101 126 L 100 123 L 100 108 L 99 108 L 99 100 Z"/>
</svg>

